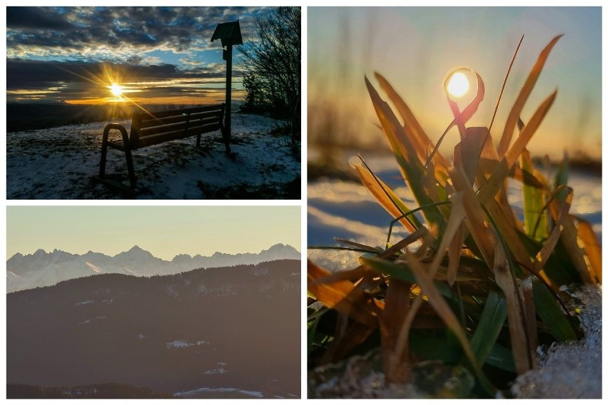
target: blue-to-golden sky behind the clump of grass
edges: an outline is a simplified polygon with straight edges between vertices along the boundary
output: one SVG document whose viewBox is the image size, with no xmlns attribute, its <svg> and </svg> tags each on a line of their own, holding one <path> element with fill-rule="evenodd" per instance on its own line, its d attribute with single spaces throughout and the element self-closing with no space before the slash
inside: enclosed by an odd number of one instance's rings
<svg viewBox="0 0 608 405">
<path fill-rule="evenodd" d="M 328 100 L 325 105 L 340 108 L 352 123 L 347 135 L 378 133 L 363 80 L 367 75 L 378 88 L 373 77 L 377 71 L 432 140 L 452 120 L 441 87 L 448 71 L 465 66 L 480 73 L 485 100 L 468 125 L 487 126 L 517 42 L 525 34 L 492 129 L 497 138 L 540 51 L 564 34 L 522 113 L 527 122 L 557 88 L 530 150 L 561 155 L 564 149 L 572 153 L 580 148 L 601 155 L 600 7 L 310 7 L 307 32 L 309 111 Z M 457 138 L 450 137 L 446 145 L 453 146 Z"/>
</svg>

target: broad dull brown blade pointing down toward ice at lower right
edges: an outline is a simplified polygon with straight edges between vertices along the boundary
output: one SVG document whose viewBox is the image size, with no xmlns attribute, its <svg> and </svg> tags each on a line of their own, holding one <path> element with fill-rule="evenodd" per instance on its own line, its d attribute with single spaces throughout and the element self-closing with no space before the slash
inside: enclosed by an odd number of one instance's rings
<svg viewBox="0 0 608 405">
<path fill-rule="evenodd" d="M 507 301 L 507 322 L 515 360 L 515 371 L 517 371 L 517 374 L 523 374 L 533 368 L 533 362 L 530 358 L 530 342 L 527 338 L 528 328 L 525 321 L 525 307 L 515 283 L 515 277 L 510 270 L 505 249 L 499 241 L 495 243 L 493 270 L 496 284 L 502 289 Z"/>
</svg>

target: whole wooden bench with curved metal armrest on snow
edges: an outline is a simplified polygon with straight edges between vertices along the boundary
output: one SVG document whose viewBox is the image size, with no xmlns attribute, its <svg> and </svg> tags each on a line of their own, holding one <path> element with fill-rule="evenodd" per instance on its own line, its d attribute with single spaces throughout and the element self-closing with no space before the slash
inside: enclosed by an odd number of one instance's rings
<svg viewBox="0 0 608 405">
<path fill-rule="evenodd" d="M 188 138 L 196 135 L 196 147 L 201 146 L 201 134 L 221 130 L 226 153 L 230 153 L 228 133 L 224 129 L 224 104 L 213 106 L 201 106 L 194 108 L 183 108 L 171 111 L 159 111 L 157 113 L 134 113 L 131 121 L 131 135 L 123 125 L 111 123 L 103 128 L 101 140 L 101 162 L 99 163 L 99 176 L 97 180 L 110 185 L 116 182 L 106 179 L 106 154 L 108 147 L 121 150 L 125 153 L 128 180 L 131 189 L 136 188 L 137 179 L 133 169 L 133 156 L 131 150 L 144 148 L 146 146 L 165 143 L 170 140 Z M 119 130 L 122 142 L 108 140 L 111 130 Z"/>
</svg>

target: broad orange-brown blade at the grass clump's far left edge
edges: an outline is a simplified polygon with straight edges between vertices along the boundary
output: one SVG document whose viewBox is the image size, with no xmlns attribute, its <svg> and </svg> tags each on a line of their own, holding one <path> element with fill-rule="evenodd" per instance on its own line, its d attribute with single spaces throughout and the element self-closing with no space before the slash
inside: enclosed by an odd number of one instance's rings
<svg viewBox="0 0 608 405">
<path fill-rule="evenodd" d="M 316 280 L 330 275 L 313 262 L 308 261 L 308 291 L 318 301 L 327 307 L 348 315 L 360 324 L 368 327 L 378 326 L 378 313 L 380 308 L 375 304 L 373 298 L 363 289 L 356 288 L 355 284 L 348 281 L 334 282 L 332 284 L 317 284 Z"/>
</svg>

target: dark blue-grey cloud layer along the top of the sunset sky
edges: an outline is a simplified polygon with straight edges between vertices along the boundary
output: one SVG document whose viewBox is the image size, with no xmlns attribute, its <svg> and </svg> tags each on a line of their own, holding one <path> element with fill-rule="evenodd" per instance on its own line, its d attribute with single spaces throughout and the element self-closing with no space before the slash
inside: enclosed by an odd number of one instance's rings
<svg viewBox="0 0 608 405">
<path fill-rule="evenodd" d="M 249 37 L 255 19 L 268 12 L 246 7 L 8 7 L 6 48 L 45 56 L 62 50 L 94 52 L 97 46 L 187 52 L 192 46 L 209 46 L 219 22 L 242 19 L 243 37 Z"/>
</svg>

